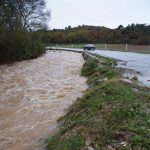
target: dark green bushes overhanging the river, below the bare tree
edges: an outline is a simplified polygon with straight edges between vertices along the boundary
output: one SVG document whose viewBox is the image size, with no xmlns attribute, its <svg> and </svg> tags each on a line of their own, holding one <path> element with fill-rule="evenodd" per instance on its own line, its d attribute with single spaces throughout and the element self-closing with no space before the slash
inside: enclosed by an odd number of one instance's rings
<svg viewBox="0 0 150 150">
<path fill-rule="evenodd" d="M 45 52 L 36 33 L 17 31 L 0 36 L 0 63 L 36 58 Z"/>
</svg>

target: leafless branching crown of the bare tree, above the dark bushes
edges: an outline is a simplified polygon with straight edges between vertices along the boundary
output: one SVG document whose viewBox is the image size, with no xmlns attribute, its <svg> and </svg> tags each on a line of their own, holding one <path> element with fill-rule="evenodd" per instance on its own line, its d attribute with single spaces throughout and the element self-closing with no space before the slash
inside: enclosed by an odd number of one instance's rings
<svg viewBox="0 0 150 150">
<path fill-rule="evenodd" d="M 50 12 L 45 8 L 45 0 L 1 0 L 0 22 L 11 29 L 34 30 L 46 27 Z"/>
</svg>

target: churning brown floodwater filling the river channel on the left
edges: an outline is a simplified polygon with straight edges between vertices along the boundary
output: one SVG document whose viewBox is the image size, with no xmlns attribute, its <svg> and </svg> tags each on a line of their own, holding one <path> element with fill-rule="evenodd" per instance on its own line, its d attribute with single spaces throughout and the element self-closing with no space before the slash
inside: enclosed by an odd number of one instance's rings
<svg viewBox="0 0 150 150">
<path fill-rule="evenodd" d="M 57 119 L 87 89 L 73 52 L 0 66 L 0 150 L 39 150 Z"/>
</svg>

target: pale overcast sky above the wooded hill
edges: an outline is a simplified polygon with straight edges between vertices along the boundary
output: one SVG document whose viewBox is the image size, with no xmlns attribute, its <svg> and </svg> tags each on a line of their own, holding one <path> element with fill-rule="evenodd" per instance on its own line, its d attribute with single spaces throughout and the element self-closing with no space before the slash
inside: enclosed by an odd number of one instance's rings
<svg viewBox="0 0 150 150">
<path fill-rule="evenodd" d="M 150 24 L 150 0 L 46 0 L 50 28 Z"/>
</svg>

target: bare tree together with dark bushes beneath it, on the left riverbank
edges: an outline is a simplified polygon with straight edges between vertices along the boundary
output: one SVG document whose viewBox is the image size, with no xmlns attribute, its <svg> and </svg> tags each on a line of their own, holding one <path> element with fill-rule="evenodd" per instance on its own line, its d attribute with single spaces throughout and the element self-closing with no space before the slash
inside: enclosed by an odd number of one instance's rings
<svg viewBox="0 0 150 150">
<path fill-rule="evenodd" d="M 0 63 L 19 61 L 45 52 L 36 32 L 46 28 L 44 0 L 0 1 Z"/>
</svg>

